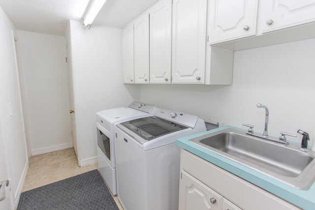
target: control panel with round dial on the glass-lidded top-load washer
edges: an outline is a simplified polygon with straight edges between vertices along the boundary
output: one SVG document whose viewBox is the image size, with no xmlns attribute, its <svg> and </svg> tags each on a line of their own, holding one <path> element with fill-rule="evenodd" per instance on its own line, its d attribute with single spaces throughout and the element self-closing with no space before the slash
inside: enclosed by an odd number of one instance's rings
<svg viewBox="0 0 315 210">
<path fill-rule="evenodd" d="M 197 120 L 199 119 L 198 116 L 190 115 L 183 112 L 178 112 L 170 109 L 160 108 L 158 112 L 155 114 L 155 116 L 169 120 L 175 123 L 179 123 L 182 125 L 185 125 L 190 128 L 194 128 L 194 126 L 197 123 Z"/>
</svg>

